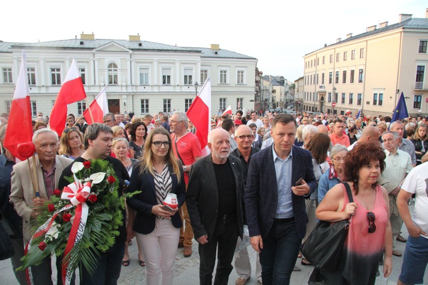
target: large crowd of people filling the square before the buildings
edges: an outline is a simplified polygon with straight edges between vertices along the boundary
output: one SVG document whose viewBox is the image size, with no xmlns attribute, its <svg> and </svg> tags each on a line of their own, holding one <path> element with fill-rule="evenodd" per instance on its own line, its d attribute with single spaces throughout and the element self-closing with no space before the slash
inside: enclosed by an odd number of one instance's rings
<svg viewBox="0 0 428 285">
<path fill-rule="evenodd" d="M 7 114 L 1 117 L 3 143 Z M 69 114 L 60 136 L 49 129 L 48 119 L 40 113 L 33 122 L 35 164 L 33 158 L 30 164 L 16 163 L 4 147 L 0 155 L 0 210 L 15 249 L 14 269 L 34 234 L 33 219 L 55 189 L 68 185 L 72 163 L 103 159 L 119 179 L 118 191 L 141 193 L 127 199 L 115 244 L 94 255 L 95 272 L 81 264 L 80 284 L 116 284 L 122 266 L 130 265 L 134 237 L 150 285 L 172 284 L 177 248 L 191 256 L 194 241 L 200 284 L 228 284 L 235 267 L 236 284 L 244 285 L 252 272 L 251 250 L 257 252 L 260 284 L 289 284 L 291 273 L 301 270 L 295 266 L 298 258 L 311 265 L 300 246 L 317 222 L 348 219 L 338 268 L 314 268 L 308 284 L 374 284 L 380 272 L 387 277 L 392 270 L 401 272 L 398 284 L 423 282 L 428 262 L 424 117 L 391 122 L 388 116 L 351 113 L 259 117 L 238 110 L 212 116 L 208 155 L 180 111 L 141 117 L 107 113 L 102 123 L 93 124 Z M 34 197 L 33 171 L 40 197 Z M 171 195 L 177 205 L 168 209 L 163 204 Z M 400 235 L 403 222 L 407 238 Z M 403 254 L 397 241 L 406 242 L 402 268 L 392 268 L 392 255 Z M 58 256 L 58 284 L 61 261 Z M 37 272 L 34 284 L 53 283 L 50 256 L 31 271 Z M 20 284 L 27 284 L 24 271 L 14 272 Z"/>
</svg>

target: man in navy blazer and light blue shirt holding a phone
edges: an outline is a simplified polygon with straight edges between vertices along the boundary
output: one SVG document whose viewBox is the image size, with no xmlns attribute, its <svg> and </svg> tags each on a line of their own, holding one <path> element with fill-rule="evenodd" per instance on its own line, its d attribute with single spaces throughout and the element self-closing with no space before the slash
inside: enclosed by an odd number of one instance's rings
<svg viewBox="0 0 428 285">
<path fill-rule="evenodd" d="M 311 154 L 293 146 L 296 126 L 290 114 L 274 118 L 274 144 L 251 158 L 245 187 L 251 244 L 260 252 L 262 281 L 268 285 L 290 282 L 306 232 L 304 199 L 316 187 Z"/>
</svg>

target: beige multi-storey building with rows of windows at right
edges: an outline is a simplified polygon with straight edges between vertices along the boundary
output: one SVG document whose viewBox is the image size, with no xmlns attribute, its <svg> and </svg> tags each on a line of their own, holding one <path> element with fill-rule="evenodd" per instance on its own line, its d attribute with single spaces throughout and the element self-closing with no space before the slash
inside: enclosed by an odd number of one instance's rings
<svg viewBox="0 0 428 285">
<path fill-rule="evenodd" d="M 391 116 L 403 92 L 409 115 L 427 115 L 428 9 L 425 18 L 411 16 L 306 54 L 302 110 Z"/>
</svg>

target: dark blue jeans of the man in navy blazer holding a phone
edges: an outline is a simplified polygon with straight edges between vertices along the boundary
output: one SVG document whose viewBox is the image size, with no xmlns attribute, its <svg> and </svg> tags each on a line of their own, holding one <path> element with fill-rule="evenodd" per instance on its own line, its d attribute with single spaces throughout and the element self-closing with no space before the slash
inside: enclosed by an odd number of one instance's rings
<svg viewBox="0 0 428 285">
<path fill-rule="evenodd" d="M 297 236 L 295 221 L 274 220 L 263 239 L 260 253 L 264 285 L 287 285 L 299 254 L 302 240 Z"/>
</svg>

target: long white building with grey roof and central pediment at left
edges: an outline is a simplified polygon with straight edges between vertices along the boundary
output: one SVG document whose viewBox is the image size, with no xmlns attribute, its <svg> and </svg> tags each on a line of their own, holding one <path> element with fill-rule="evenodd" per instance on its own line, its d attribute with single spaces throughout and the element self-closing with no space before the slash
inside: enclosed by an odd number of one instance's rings
<svg viewBox="0 0 428 285">
<path fill-rule="evenodd" d="M 211 111 L 235 112 L 238 106 L 254 108 L 257 59 L 236 52 L 210 48 L 177 47 L 142 41 L 80 39 L 42 43 L 0 41 L 0 113 L 9 112 L 18 78 L 22 50 L 27 54 L 31 107 L 49 115 L 73 58 L 77 60 L 87 102 L 105 86 L 111 112 L 136 115 L 187 111 L 196 88 L 211 78 Z M 196 82 L 198 84 L 196 84 Z M 86 100 L 70 104 L 68 113 L 81 114 Z"/>
</svg>

